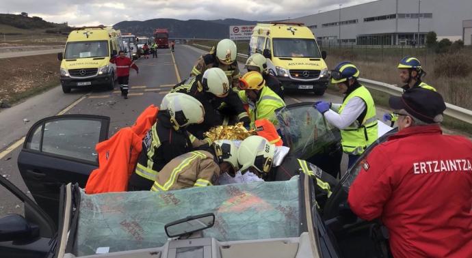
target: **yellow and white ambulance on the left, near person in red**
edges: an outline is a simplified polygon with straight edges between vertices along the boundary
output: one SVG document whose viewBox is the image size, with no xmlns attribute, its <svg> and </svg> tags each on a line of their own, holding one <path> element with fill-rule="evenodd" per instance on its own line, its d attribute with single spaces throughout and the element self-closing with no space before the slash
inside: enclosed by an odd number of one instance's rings
<svg viewBox="0 0 472 258">
<path fill-rule="evenodd" d="M 124 48 L 120 31 L 111 27 L 81 27 L 71 31 L 61 61 L 61 85 L 64 93 L 70 89 L 106 85 L 112 90 L 116 81 L 116 66 L 110 59 Z"/>
</svg>

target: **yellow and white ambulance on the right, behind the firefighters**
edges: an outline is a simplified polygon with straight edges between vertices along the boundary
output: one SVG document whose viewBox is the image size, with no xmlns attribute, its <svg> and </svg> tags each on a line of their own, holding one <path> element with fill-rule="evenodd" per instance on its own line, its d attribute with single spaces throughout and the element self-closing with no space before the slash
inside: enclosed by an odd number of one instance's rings
<svg viewBox="0 0 472 258">
<path fill-rule="evenodd" d="M 303 23 L 257 24 L 250 39 L 250 55 L 254 53 L 267 58 L 267 70 L 285 90 L 323 95 L 328 87 L 326 52 L 319 51 L 315 35 Z"/>
</svg>

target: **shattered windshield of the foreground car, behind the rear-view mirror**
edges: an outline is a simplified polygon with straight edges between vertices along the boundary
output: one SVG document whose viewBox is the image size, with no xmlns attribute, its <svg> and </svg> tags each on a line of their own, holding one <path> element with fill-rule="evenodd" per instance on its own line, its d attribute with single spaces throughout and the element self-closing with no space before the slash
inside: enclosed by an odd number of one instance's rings
<svg viewBox="0 0 472 258">
<path fill-rule="evenodd" d="M 276 193 L 276 194 L 274 194 Z M 164 225 L 191 215 L 213 213 L 204 237 L 218 241 L 300 236 L 299 177 L 284 182 L 252 182 L 168 192 L 81 191 L 75 255 L 160 247 Z M 73 235 L 73 234 L 71 234 Z"/>
</svg>

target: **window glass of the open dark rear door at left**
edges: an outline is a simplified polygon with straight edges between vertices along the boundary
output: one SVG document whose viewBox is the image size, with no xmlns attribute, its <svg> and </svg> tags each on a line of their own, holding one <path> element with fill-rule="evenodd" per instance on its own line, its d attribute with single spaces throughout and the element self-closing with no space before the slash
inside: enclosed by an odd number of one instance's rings
<svg viewBox="0 0 472 258">
<path fill-rule="evenodd" d="M 96 162 L 95 145 L 106 138 L 107 130 L 108 123 L 99 116 L 43 119 L 30 129 L 25 149 Z"/>
</svg>

